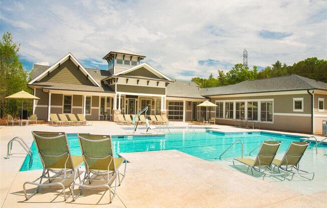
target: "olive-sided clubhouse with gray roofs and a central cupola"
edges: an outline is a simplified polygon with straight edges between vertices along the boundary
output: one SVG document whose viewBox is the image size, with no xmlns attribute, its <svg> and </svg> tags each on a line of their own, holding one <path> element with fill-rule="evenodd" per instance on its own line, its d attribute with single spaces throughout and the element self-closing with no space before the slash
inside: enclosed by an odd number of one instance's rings
<svg viewBox="0 0 327 208">
<path fill-rule="evenodd" d="M 176 80 L 143 62 L 145 55 L 127 49 L 112 50 L 103 59 L 108 69 L 86 68 L 71 53 L 52 66 L 34 64 L 28 86 L 40 97 L 33 103 L 38 119 L 49 113 L 83 113 L 114 121 L 117 114 L 165 114 L 170 120 L 215 117 L 217 124 L 255 121 L 260 128 L 322 132 L 327 120 L 327 83 L 299 75 L 243 81 L 201 88 Z M 217 107 L 198 107 L 205 100 Z M 210 113 L 210 114 L 209 114 Z"/>
</svg>

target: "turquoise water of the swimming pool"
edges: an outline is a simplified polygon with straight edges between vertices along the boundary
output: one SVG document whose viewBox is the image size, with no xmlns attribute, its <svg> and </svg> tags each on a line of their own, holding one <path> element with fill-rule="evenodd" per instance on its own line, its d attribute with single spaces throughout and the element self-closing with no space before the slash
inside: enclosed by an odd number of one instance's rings
<svg viewBox="0 0 327 208">
<path fill-rule="evenodd" d="M 176 149 L 193 156 L 212 160 L 219 158 L 219 155 L 228 148 L 234 141 L 241 139 L 244 143 L 244 155 L 261 144 L 269 137 L 282 141 L 279 152 L 286 151 L 291 141 L 299 141 L 299 136 L 288 134 L 275 134 L 270 132 L 247 132 L 247 133 L 220 133 L 210 130 L 204 132 L 179 132 L 164 135 L 137 135 L 137 136 L 113 136 L 115 153 L 169 150 Z M 81 155 L 77 134 L 68 134 L 68 144 L 72 155 Z M 313 145 L 313 144 L 312 144 Z M 33 163 L 29 164 L 30 156 L 25 161 L 20 171 L 42 169 L 42 163 L 33 142 Z M 257 153 L 257 150 L 252 153 Z M 230 148 L 223 157 L 236 157 L 241 155 L 241 143 Z"/>
</svg>

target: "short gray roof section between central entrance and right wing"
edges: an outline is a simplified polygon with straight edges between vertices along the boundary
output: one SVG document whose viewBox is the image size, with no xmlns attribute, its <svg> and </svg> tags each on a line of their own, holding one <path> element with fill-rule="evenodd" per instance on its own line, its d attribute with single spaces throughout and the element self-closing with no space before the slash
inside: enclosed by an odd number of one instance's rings
<svg viewBox="0 0 327 208">
<path fill-rule="evenodd" d="M 167 96 L 204 98 L 200 92 L 200 86 L 193 81 L 174 80 L 167 86 Z"/>
</svg>

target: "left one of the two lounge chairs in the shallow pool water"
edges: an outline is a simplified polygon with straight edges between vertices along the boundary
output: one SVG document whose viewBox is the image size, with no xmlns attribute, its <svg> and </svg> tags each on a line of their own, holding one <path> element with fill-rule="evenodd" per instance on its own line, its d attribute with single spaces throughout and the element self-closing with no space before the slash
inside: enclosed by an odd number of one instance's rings
<svg viewBox="0 0 327 208">
<path fill-rule="evenodd" d="M 272 169 L 272 160 L 274 159 L 277 150 L 281 144 L 281 141 L 263 141 L 260 146 L 259 152 L 255 159 L 252 158 L 234 158 L 233 165 L 235 165 L 234 161 L 239 161 L 248 166 L 246 172 L 251 169 L 252 175 L 253 170 L 263 173 L 263 179 L 266 175 L 268 176 L 281 176 L 283 175 L 285 180 L 286 174 L 285 173 L 273 173 Z M 268 169 L 268 170 L 267 170 Z"/>
</svg>

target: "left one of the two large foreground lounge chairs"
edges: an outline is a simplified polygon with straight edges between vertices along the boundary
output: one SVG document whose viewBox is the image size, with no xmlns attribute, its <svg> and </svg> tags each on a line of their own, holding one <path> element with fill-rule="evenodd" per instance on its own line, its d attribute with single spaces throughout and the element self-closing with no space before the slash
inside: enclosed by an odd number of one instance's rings
<svg viewBox="0 0 327 208">
<path fill-rule="evenodd" d="M 72 191 L 66 196 L 66 188 L 63 183 L 73 174 L 74 181 L 77 176 L 80 179 L 78 167 L 83 162 L 82 156 L 71 155 L 65 132 L 32 131 L 32 135 L 42 161 L 43 172 L 37 179 L 24 183 L 23 189 L 26 199 L 28 200 L 38 193 L 43 186 L 60 186 L 66 200 Z M 50 173 L 53 175 L 50 176 Z M 43 179 L 48 180 L 48 182 L 42 183 Z M 39 182 L 37 182 L 38 180 Z M 36 191 L 28 195 L 26 192 L 27 184 L 37 185 Z"/>
</svg>

